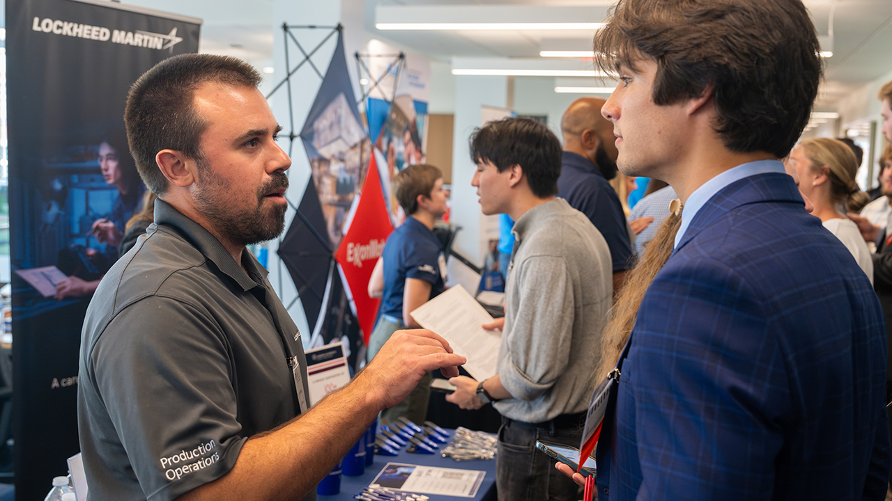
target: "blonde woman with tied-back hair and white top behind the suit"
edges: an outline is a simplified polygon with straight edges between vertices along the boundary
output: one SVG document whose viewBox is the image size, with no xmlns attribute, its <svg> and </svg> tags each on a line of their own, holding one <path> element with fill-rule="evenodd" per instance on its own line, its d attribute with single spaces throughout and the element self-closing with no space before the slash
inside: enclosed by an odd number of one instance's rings
<svg viewBox="0 0 892 501">
<path fill-rule="evenodd" d="M 799 189 L 814 204 L 813 216 L 837 236 L 873 283 L 873 261 L 858 226 L 846 218 L 869 201 L 855 183 L 858 165 L 847 144 L 827 137 L 803 140 L 789 155 L 799 175 Z"/>
</svg>

